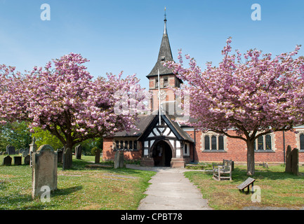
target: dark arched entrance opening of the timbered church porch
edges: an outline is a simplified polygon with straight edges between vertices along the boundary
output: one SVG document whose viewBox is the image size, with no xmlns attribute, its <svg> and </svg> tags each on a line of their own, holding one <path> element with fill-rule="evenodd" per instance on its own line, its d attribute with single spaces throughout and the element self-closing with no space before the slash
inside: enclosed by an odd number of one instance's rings
<svg viewBox="0 0 304 224">
<path fill-rule="evenodd" d="M 172 159 L 171 146 L 164 140 L 158 141 L 152 148 L 152 158 L 154 160 L 154 166 L 170 167 Z"/>
</svg>

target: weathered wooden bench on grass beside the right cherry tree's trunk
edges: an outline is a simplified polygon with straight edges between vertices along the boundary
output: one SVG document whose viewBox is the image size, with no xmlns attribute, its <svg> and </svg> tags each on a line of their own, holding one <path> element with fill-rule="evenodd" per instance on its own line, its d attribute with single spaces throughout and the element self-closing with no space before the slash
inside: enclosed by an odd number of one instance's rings
<svg viewBox="0 0 304 224">
<path fill-rule="evenodd" d="M 223 164 L 213 164 L 213 179 L 221 181 L 229 179 L 232 181 L 232 160 L 223 160 Z"/>
</svg>

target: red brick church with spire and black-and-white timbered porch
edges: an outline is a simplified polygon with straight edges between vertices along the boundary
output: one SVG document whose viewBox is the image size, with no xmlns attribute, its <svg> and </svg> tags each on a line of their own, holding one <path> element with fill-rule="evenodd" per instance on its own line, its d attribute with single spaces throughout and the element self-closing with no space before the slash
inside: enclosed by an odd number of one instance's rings
<svg viewBox="0 0 304 224">
<path fill-rule="evenodd" d="M 139 130 L 105 137 L 103 160 L 114 160 L 116 151 L 124 151 L 125 160 L 140 160 L 141 165 L 149 167 L 185 167 L 189 162 L 223 162 L 223 159 L 246 162 L 246 143 L 241 139 L 215 132 L 199 132 L 193 127 L 180 125 L 176 116 L 168 113 L 172 105 L 176 107 L 175 95 L 168 87 L 180 87 L 183 81 L 162 65 L 163 62 L 173 61 L 166 22 L 165 15 L 157 62 L 147 74 L 153 96 L 150 109 L 155 113 L 139 116 L 136 124 Z M 161 110 L 157 97 L 159 91 L 166 92 L 165 98 L 161 99 Z M 274 132 L 256 139 L 256 162 L 283 163 L 288 145 L 299 149 L 299 162 L 304 162 L 304 126 L 295 130 L 298 133 Z"/>
</svg>

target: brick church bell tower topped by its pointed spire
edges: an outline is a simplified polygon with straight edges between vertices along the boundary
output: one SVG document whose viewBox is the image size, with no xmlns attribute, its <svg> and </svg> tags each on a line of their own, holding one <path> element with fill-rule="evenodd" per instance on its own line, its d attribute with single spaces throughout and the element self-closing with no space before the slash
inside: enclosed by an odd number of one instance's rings
<svg viewBox="0 0 304 224">
<path fill-rule="evenodd" d="M 159 90 L 161 105 L 170 104 L 175 102 L 175 95 L 169 87 L 180 87 L 183 83 L 176 75 L 173 73 L 173 69 L 168 69 L 164 66 L 164 62 L 173 61 L 170 42 L 168 39 L 167 31 L 167 19 L 166 19 L 166 8 L 164 15 L 164 33 L 161 39 L 161 46 L 159 48 L 159 56 L 157 62 L 154 65 L 152 71 L 147 75 L 149 79 L 149 90 L 152 93 L 152 98 L 150 102 L 151 111 L 157 111 L 159 109 Z"/>
</svg>

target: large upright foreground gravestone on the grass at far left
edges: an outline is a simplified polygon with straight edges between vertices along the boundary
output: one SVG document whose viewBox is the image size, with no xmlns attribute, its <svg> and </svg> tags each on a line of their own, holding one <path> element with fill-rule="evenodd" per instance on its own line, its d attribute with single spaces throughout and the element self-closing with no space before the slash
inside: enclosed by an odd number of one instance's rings
<svg viewBox="0 0 304 224">
<path fill-rule="evenodd" d="M 40 146 L 32 153 L 32 199 L 41 196 L 42 188 L 57 189 L 57 153 L 52 146 Z M 42 191 L 41 191 L 42 190 Z"/>
</svg>

